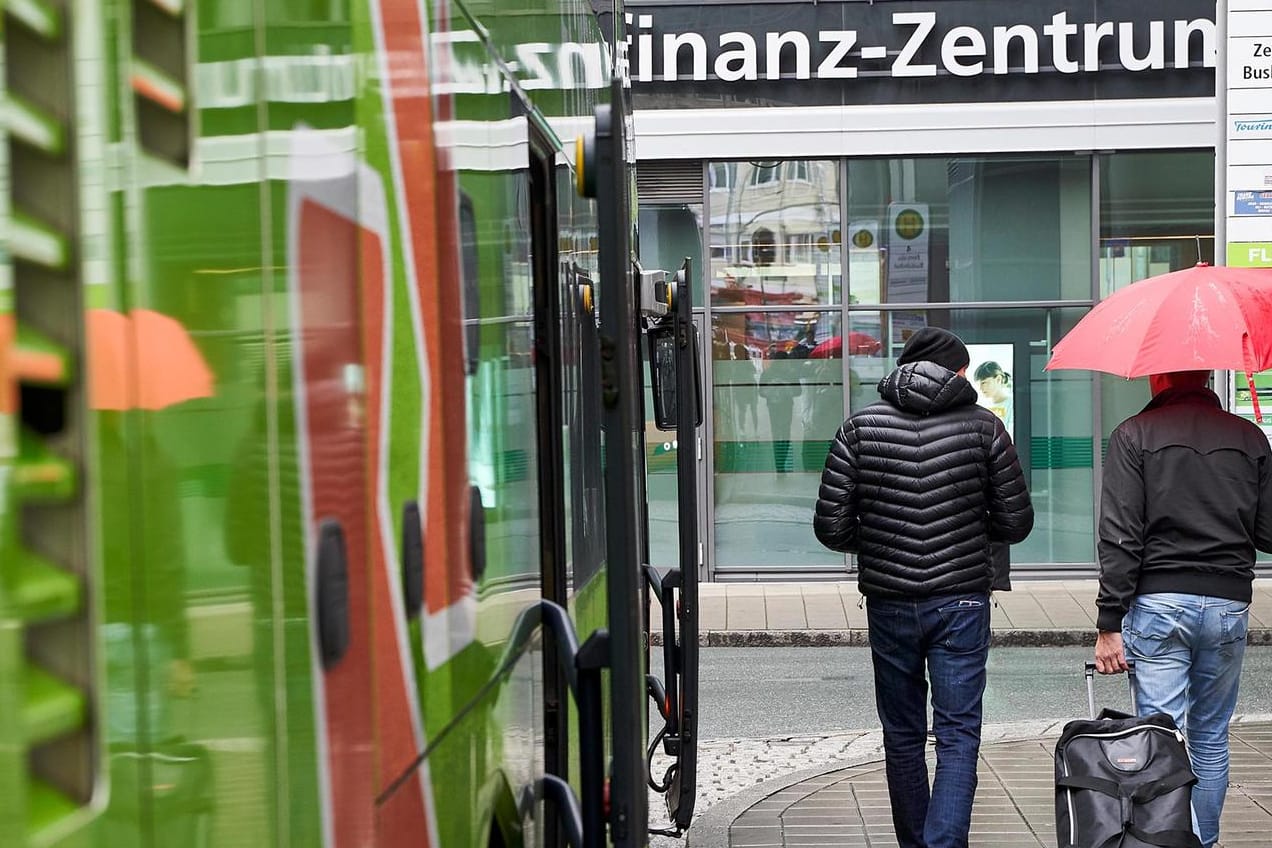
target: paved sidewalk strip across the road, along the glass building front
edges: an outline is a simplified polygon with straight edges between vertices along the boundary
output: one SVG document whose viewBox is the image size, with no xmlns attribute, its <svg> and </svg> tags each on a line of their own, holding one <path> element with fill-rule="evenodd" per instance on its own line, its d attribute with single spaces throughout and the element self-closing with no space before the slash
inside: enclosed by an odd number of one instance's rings
<svg viewBox="0 0 1272 848">
<path fill-rule="evenodd" d="M 1060 647 L 1095 641 L 1095 578 L 1014 577 L 995 592 L 993 645 Z M 700 643 L 710 647 L 866 645 L 856 580 L 801 584 L 701 584 Z M 1250 645 L 1272 643 L 1272 580 L 1254 582 Z"/>
</svg>

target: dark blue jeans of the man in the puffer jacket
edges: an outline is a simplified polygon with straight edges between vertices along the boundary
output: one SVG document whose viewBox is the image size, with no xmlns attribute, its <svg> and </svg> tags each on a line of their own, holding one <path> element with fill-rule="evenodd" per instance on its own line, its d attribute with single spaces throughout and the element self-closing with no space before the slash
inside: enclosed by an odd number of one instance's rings
<svg viewBox="0 0 1272 848">
<path fill-rule="evenodd" d="M 868 599 L 875 704 L 899 848 L 967 848 L 990 656 L 990 596 Z M 927 784 L 927 684 L 936 778 Z"/>
</svg>

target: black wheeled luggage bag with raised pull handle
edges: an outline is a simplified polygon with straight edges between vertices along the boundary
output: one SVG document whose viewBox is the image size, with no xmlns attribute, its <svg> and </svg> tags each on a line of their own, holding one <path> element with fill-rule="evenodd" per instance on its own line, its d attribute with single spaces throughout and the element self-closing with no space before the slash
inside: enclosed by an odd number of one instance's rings
<svg viewBox="0 0 1272 848">
<path fill-rule="evenodd" d="M 1130 671 L 1131 709 L 1137 681 Z M 1060 848 L 1202 848 L 1192 830 L 1197 782 L 1183 734 L 1165 713 L 1095 715 L 1095 664 L 1086 664 L 1090 718 L 1065 725 L 1056 742 Z"/>
</svg>

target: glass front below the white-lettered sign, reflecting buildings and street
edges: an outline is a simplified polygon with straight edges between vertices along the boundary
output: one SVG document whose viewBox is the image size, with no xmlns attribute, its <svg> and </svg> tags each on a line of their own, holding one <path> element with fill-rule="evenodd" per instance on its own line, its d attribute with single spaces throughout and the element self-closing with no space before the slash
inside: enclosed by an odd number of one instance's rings
<svg viewBox="0 0 1272 848">
<path fill-rule="evenodd" d="M 687 137 L 686 153 L 692 144 Z M 710 297 L 698 301 L 712 339 L 709 573 L 843 568 L 806 521 L 827 439 L 846 413 L 878 402 L 879 380 L 925 325 L 967 342 L 967 378 L 1027 469 L 1038 519 L 1013 561 L 1090 566 L 1095 456 L 1147 390 L 1042 367 L 1093 292 L 1213 256 L 1212 154 L 719 161 L 712 156 L 728 154 L 712 144 L 697 155 L 706 184 L 684 184 L 678 200 L 706 196 L 696 207 L 701 230 L 683 238 L 709 247 L 701 277 Z M 682 159 L 672 164 L 642 161 L 641 173 L 659 184 L 663 172 L 689 170 Z M 978 367 L 992 373 L 978 376 Z M 1238 389 L 1236 406 L 1249 404 L 1244 384 Z"/>
</svg>

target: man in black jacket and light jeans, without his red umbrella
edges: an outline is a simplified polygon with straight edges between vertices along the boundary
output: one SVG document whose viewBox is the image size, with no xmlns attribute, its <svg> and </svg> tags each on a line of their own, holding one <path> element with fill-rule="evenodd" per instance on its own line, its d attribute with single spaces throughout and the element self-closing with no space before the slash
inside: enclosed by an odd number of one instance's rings
<svg viewBox="0 0 1272 848">
<path fill-rule="evenodd" d="M 1095 642 L 1102 674 L 1135 660 L 1140 713 L 1164 712 L 1187 736 L 1206 848 L 1227 793 L 1254 549 L 1272 552 L 1272 449 L 1220 407 L 1208 376 L 1150 376 L 1152 400 L 1109 440 Z"/>
</svg>

